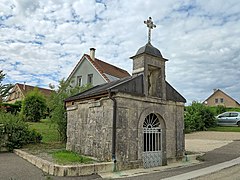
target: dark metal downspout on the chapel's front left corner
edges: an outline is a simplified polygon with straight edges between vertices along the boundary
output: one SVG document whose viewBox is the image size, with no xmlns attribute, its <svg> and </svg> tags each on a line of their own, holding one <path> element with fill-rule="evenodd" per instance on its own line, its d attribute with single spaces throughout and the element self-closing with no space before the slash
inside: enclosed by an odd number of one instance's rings
<svg viewBox="0 0 240 180">
<path fill-rule="evenodd" d="M 117 101 L 110 91 L 108 91 L 108 97 L 113 101 L 113 124 L 112 124 L 112 161 L 114 163 L 113 171 L 117 170 L 117 159 L 116 159 L 116 134 L 117 134 Z"/>
</svg>

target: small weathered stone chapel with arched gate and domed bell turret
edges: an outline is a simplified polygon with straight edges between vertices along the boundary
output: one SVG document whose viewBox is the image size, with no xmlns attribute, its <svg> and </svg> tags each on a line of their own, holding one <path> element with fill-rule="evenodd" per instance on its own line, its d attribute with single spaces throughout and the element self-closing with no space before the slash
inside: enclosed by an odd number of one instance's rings
<svg viewBox="0 0 240 180">
<path fill-rule="evenodd" d="M 185 98 L 165 79 L 149 42 L 131 57 L 133 74 L 65 100 L 66 149 L 114 162 L 114 170 L 166 165 L 184 155 Z"/>
</svg>

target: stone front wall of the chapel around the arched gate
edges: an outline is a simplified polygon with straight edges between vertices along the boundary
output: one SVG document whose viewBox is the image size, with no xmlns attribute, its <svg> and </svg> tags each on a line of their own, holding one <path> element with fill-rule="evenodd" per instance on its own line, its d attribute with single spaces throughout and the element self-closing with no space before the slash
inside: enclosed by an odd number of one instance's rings
<svg viewBox="0 0 240 180">
<path fill-rule="evenodd" d="M 165 121 L 166 158 L 176 159 L 184 153 L 183 104 L 157 100 L 156 98 L 136 98 L 130 95 L 118 95 L 117 118 L 117 158 L 120 161 L 135 161 L 142 155 L 141 114 L 155 113 Z M 166 161 L 166 159 L 164 160 Z"/>
</svg>

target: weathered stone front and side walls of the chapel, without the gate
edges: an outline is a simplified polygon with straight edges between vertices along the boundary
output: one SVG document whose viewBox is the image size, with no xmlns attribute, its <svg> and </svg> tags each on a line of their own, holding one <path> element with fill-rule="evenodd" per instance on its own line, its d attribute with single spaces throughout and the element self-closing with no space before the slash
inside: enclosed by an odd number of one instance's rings
<svg viewBox="0 0 240 180">
<path fill-rule="evenodd" d="M 116 158 L 118 162 L 141 161 L 143 122 L 150 113 L 162 119 L 163 164 L 184 152 L 183 103 L 118 93 Z M 82 102 L 68 108 L 67 149 L 102 161 L 112 156 L 113 102 L 108 98 Z"/>
</svg>

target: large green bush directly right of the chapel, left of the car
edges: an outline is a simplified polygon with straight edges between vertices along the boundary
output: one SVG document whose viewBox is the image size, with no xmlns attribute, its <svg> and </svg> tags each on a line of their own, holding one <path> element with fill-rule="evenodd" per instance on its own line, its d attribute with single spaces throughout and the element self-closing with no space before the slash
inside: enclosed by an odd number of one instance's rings
<svg viewBox="0 0 240 180">
<path fill-rule="evenodd" d="M 193 102 L 185 109 L 185 132 L 204 131 L 209 127 L 216 126 L 214 113 L 202 103 Z"/>
</svg>

